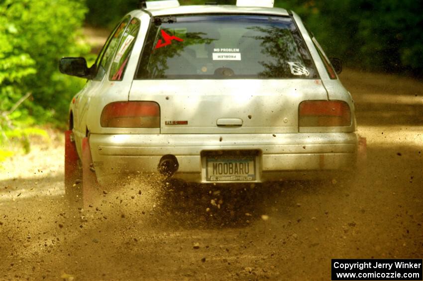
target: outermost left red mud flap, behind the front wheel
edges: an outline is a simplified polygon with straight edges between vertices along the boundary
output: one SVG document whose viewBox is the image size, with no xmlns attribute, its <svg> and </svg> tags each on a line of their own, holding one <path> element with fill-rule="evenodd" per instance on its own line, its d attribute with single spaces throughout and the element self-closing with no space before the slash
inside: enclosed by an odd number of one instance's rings
<svg viewBox="0 0 423 281">
<path fill-rule="evenodd" d="M 78 177 L 78 152 L 71 141 L 72 130 L 65 131 L 65 187 L 72 187 Z"/>
</svg>

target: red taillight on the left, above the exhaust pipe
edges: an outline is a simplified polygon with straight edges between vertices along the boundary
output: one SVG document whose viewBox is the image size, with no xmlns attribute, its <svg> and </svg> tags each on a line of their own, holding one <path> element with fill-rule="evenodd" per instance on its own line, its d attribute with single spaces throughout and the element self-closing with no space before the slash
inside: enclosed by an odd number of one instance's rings
<svg viewBox="0 0 423 281">
<path fill-rule="evenodd" d="M 102 127 L 160 128 L 160 107 L 154 101 L 117 101 L 105 106 Z"/>
</svg>

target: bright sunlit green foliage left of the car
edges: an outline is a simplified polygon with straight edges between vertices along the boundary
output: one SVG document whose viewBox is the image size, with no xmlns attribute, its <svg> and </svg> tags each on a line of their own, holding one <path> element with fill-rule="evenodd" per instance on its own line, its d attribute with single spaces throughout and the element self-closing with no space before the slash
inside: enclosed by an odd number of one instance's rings
<svg viewBox="0 0 423 281">
<path fill-rule="evenodd" d="M 1 1 L 3 151 L 10 136 L 22 140 L 40 133 L 32 128 L 35 124 L 46 121 L 59 124 L 67 119 L 69 100 L 84 81 L 60 74 L 58 62 L 63 56 L 89 52 L 80 33 L 86 12 L 81 1 Z"/>
</svg>

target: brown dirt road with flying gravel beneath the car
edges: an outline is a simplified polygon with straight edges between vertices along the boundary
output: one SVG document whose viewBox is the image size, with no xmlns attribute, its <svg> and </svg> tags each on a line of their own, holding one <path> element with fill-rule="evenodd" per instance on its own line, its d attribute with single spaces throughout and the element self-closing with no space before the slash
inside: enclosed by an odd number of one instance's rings
<svg viewBox="0 0 423 281">
<path fill-rule="evenodd" d="M 368 144 L 352 181 L 181 194 L 151 176 L 69 211 L 52 134 L 1 167 L 0 279 L 330 280 L 332 258 L 422 258 L 423 84 L 340 78 Z"/>
</svg>

